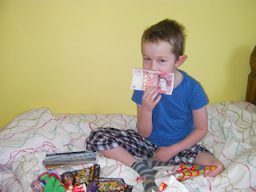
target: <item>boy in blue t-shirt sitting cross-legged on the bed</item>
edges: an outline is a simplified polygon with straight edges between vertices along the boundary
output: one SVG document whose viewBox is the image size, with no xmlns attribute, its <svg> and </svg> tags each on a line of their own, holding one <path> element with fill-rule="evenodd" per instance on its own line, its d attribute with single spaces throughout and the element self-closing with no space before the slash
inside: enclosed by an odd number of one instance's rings
<svg viewBox="0 0 256 192">
<path fill-rule="evenodd" d="M 91 132 L 88 150 L 98 150 L 132 167 L 146 177 L 142 185 L 146 192 L 158 191 L 154 183 L 154 166 L 196 164 L 218 166 L 205 176 L 215 177 L 224 170 L 204 146 L 197 145 L 206 136 L 208 99 L 202 86 L 178 66 L 186 60 L 183 55 L 184 27 L 173 20 L 163 20 L 145 30 L 142 35 L 144 70 L 174 73 L 172 95 L 159 94 L 158 87 L 134 90 L 137 103 L 137 130 L 101 128 Z M 138 160 L 137 158 L 146 158 Z"/>
</svg>

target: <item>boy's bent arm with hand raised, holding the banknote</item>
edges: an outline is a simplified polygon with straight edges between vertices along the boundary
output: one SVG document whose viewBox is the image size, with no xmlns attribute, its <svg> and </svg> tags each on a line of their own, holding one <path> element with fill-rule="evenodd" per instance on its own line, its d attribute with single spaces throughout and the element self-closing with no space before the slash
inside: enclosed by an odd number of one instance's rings
<svg viewBox="0 0 256 192">
<path fill-rule="evenodd" d="M 161 98 L 158 87 L 151 86 L 142 96 L 142 105 L 137 104 L 137 130 L 143 138 L 150 137 L 152 133 L 152 112 Z"/>
</svg>

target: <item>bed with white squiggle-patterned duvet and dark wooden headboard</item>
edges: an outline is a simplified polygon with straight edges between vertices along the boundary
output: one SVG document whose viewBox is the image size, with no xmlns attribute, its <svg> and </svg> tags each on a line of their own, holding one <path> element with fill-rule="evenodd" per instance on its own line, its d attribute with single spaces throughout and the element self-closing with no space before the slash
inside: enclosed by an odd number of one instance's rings
<svg viewBox="0 0 256 192">
<path fill-rule="evenodd" d="M 216 178 L 198 176 L 182 182 L 189 191 L 256 191 L 256 46 L 250 55 L 246 101 L 207 105 L 209 131 L 202 140 L 226 170 Z M 35 172 L 45 170 L 46 154 L 84 150 L 86 138 L 98 127 L 136 129 L 136 116 L 128 114 L 52 114 L 34 109 L 14 118 L 0 134 L 0 191 L 32 191 Z M 138 173 L 97 154 L 102 178 L 123 178 L 133 191 L 143 191 Z M 58 174 L 81 170 L 93 163 L 56 169 Z M 171 173 L 176 166 L 158 167 Z M 159 175 L 159 174 L 158 174 Z M 160 177 L 160 176 L 159 176 Z"/>
</svg>

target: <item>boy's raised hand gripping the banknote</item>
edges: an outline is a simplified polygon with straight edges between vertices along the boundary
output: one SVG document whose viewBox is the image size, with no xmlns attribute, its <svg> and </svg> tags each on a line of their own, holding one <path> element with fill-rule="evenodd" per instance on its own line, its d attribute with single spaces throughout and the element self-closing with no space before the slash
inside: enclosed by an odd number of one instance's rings
<svg viewBox="0 0 256 192">
<path fill-rule="evenodd" d="M 142 106 L 146 108 L 146 110 L 154 110 L 154 107 L 158 105 L 160 102 L 162 95 L 159 94 L 158 87 L 150 86 L 148 87 L 143 96 L 142 96 Z"/>
</svg>

